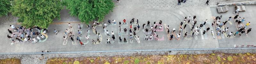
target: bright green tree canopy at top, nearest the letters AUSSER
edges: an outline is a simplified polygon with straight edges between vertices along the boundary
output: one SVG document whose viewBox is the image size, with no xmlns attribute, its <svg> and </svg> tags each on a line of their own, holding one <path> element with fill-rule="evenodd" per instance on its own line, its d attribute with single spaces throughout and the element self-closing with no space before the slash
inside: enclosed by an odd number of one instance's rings
<svg viewBox="0 0 256 64">
<path fill-rule="evenodd" d="M 65 0 L 65 4 L 70 15 L 78 16 L 81 22 L 87 24 L 95 19 L 103 21 L 115 7 L 112 0 Z"/>
</svg>

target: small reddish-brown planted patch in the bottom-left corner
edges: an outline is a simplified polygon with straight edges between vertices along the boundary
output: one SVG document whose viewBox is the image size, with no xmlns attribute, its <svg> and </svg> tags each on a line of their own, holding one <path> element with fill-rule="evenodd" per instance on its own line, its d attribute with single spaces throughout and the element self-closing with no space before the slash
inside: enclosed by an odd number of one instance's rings
<svg viewBox="0 0 256 64">
<path fill-rule="evenodd" d="M 20 59 L 0 59 L 0 64 L 20 64 Z"/>
</svg>

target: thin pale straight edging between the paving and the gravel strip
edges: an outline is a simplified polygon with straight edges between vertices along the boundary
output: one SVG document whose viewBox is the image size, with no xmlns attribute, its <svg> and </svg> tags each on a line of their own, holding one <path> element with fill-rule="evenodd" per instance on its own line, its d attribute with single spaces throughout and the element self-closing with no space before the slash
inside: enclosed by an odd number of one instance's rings
<svg viewBox="0 0 256 64">
<path fill-rule="evenodd" d="M 47 53 L 0 53 L 0 55 L 20 55 L 20 54 L 62 54 L 62 53 L 106 53 L 106 52 L 147 52 L 147 51 L 196 51 L 196 50 L 239 50 L 256 49 L 256 47 L 241 48 L 197 48 L 197 49 L 163 49 L 163 50 L 116 50 L 116 51 L 81 51 L 81 52 L 47 52 Z"/>
</svg>

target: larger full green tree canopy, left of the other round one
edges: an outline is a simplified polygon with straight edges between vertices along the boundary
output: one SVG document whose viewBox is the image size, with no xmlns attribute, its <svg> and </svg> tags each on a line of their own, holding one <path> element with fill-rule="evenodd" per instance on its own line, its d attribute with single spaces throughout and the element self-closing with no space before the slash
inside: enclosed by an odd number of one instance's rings
<svg viewBox="0 0 256 64">
<path fill-rule="evenodd" d="M 56 17 L 60 19 L 63 8 L 61 0 L 14 0 L 12 5 L 12 14 L 19 17 L 23 26 L 41 28 L 47 28 Z"/>
</svg>

